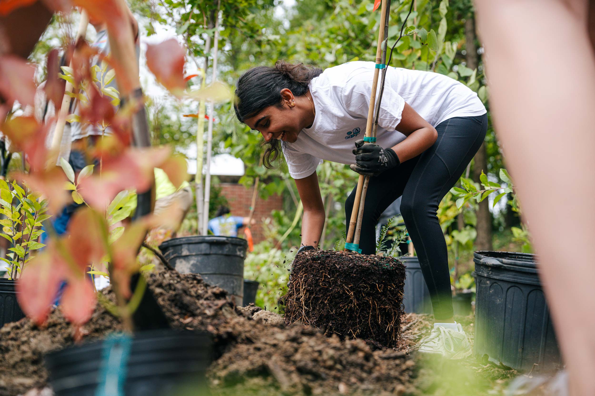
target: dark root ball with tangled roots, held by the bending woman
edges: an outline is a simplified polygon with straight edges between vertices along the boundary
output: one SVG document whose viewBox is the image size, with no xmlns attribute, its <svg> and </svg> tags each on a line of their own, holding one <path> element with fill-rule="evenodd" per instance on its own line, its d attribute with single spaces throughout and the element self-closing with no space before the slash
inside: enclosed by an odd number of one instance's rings
<svg viewBox="0 0 595 396">
<path fill-rule="evenodd" d="M 293 261 L 285 321 L 397 347 L 404 284 L 405 267 L 393 257 L 303 252 Z"/>
</svg>

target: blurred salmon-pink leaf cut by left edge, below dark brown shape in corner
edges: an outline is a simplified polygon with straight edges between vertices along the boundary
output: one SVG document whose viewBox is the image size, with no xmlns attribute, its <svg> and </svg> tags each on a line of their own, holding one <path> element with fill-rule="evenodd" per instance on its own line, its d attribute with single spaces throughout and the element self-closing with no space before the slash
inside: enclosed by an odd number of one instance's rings
<svg viewBox="0 0 595 396">
<path fill-rule="evenodd" d="M 35 102 L 35 66 L 14 55 L 0 57 L 0 94 L 7 102 L 24 106 Z"/>
</svg>

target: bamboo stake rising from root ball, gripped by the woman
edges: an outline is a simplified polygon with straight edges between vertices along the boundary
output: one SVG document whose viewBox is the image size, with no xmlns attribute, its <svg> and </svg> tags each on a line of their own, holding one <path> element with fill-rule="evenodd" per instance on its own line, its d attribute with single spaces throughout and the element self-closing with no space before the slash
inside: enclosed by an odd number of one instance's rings
<svg viewBox="0 0 595 396">
<path fill-rule="evenodd" d="M 389 5 L 389 7 L 387 7 Z M 388 11 L 387 12 L 387 8 Z M 382 2 L 382 7 L 380 11 L 380 28 L 378 29 L 378 44 L 376 46 L 376 64 L 381 64 L 382 62 L 382 55 L 384 53 L 386 58 L 386 44 L 384 45 L 383 50 L 383 42 L 386 40 L 386 34 L 388 33 L 387 20 L 388 15 L 390 14 L 390 0 L 384 0 Z M 372 92 L 370 94 L 370 103 L 368 107 L 368 120 L 366 123 L 366 132 L 365 137 L 372 137 L 372 123 L 374 122 L 374 104 L 376 102 L 376 90 L 378 88 L 378 74 L 380 74 L 380 69 L 374 69 L 374 78 L 372 80 Z M 349 220 L 349 230 L 347 231 L 347 243 L 359 243 L 359 233 L 361 232 L 361 218 L 359 218 L 359 214 L 363 215 L 364 205 L 363 201 L 365 200 L 365 190 L 368 188 L 368 180 L 369 176 L 359 175 L 358 179 L 358 187 L 355 191 L 355 201 L 353 202 L 353 209 L 351 211 L 351 218 Z M 365 186 L 365 189 L 364 189 Z M 363 199 L 362 199 L 363 196 Z M 361 210 L 360 210 L 361 209 Z M 354 239 L 354 234 L 357 233 L 356 240 Z M 348 249 L 345 249 L 348 250 Z"/>
</svg>

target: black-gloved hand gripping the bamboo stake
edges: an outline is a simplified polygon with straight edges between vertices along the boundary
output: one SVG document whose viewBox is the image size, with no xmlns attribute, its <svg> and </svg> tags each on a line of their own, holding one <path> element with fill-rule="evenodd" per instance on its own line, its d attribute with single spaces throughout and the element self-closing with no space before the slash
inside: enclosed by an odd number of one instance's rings
<svg viewBox="0 0 595 396">
<path fill-rule="evenodd" d="M 377 144 L 364 144 L 364 140 L 356 140 L 353 154 L 355 164 L 349 167 L 360 175 L 378 176 L 387 169 L 400 165 L 399 157 L 392 148 L 382 148 Z"/>
</svg>

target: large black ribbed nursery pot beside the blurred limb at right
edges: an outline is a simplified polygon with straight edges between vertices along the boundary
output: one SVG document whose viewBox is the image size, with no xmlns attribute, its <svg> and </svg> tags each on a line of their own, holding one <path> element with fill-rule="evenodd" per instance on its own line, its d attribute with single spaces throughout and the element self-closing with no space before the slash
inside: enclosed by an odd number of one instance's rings
<svg viewBox="0 0 595 396">
<path fill-rule="evenodd" d="M 475 252 L 478 359 L 487 357 L 521 371 L 562 366 L 536 259 L 533 254 Z"/>
</svg>

